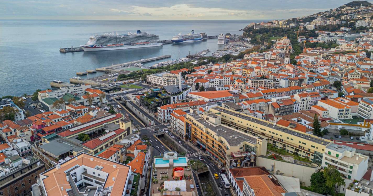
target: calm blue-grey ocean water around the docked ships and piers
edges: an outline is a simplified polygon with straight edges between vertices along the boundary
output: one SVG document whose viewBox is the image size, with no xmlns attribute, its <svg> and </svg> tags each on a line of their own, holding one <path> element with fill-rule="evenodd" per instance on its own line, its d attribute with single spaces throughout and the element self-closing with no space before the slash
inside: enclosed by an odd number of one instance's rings
<svg viewBox="0 0 373 196">
<path fill-rule="evenodd" d="M 185 57 L 199 51 L 215 51 L 222 47 L 217 39 L 207 41 L 164 44 L 162 47 L 127 50 L 60 53 L 62 47 L 78 47 L 91 35 L 135 33 L 137 30 L 171 39 L 178 33 L 206 32 L 242 34 L 251 22 L 259 20 L 0 20 L 0 97 L 4 95 L 31 94 L 36 89 L 50 88 L 52 80 L 69 82 L 69 78 L 97 67 L 172 55 L 172 59 Z M 150 64 L 154 64 L 152 62 Z M 97 72 L 90 77 L 101 75 Z M 85 78 L 83 76 L 82 78 Z"/>
</svg>

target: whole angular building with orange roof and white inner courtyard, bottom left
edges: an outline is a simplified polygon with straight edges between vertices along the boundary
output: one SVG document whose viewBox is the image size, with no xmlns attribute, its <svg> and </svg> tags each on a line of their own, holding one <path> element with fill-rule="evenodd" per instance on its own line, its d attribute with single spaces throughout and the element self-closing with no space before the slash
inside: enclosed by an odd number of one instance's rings
<svg viewBox="0 0 373 196">
<path fill-rule="evenodd" d="M 124 196 L 131 191 L 131 167 L 81 153 L 40 174 L 44 195 L 105 194 Z"/>
</svg>

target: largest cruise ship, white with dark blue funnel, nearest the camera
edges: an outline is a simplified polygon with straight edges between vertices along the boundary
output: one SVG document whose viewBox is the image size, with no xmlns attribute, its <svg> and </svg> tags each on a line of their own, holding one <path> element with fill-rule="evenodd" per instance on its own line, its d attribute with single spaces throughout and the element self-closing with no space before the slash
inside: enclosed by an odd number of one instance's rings
<svg viewBox="0 0 373 196">
<path fill-rule="evenodd" d="M 159 36 L 148 34 L 137 30 L 135 34 L 122 35 L 94 35 L 91 36 L 87 44 L 81 45 L 85 52 L 102 50 L 121 50 L 129 48 L 145 48 L 162 46 Z"/>
</svg>

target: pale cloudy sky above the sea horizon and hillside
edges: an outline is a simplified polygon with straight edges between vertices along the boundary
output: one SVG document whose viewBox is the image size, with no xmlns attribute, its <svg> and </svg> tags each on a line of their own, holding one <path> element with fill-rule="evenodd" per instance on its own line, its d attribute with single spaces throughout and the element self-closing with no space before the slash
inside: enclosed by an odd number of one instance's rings
<svg viewBox="0 0 373 196">
<path fill-rule="evenodd" d="M 0 19 L 288 19 L 352 0 L 0 0 Z"/>
</svg>

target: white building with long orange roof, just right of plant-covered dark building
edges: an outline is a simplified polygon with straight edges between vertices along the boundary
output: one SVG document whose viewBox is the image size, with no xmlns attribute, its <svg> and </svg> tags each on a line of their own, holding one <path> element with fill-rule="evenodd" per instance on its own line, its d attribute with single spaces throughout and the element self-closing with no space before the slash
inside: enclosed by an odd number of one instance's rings
<svg viewBox="0 0 373 196">
<path fill-rule="evenodd" d="M 171 118 L 171 114 L 175 110 L 189 111 L 191 107 L 205 107 L 206 101 L 191 101 L 191 102 L 181 102 L 177 104 L 162 105 L 157 108 L 158 119 L 168 123 Z"/>
</svg>

